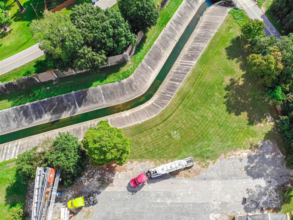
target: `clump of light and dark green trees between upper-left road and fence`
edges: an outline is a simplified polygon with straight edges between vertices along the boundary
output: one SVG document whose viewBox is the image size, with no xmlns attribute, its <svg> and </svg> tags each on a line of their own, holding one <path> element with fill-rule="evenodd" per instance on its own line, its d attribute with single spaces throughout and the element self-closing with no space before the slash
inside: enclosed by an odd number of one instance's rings
<svg viewBox="0 0 293 220">
<path fill-rule="evenodd" d="M 137 42 L 119 12 L 89 3 L 74 6 L 69 16 L 44 11 L 42 19 L 32 21 L 30 30 L 61 71 L 74 66 L 98 69 L 107 56 L 121 54 Z"/>
</svg>

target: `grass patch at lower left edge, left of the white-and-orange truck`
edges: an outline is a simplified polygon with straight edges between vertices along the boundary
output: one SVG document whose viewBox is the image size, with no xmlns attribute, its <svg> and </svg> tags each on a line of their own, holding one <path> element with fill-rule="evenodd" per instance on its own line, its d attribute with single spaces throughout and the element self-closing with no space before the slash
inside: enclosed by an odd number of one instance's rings
<svg viewBox="0 0 293 220">
<path fill-rule="evenodd" d="M 6 218 L 13 207 L 22 207 L 25 203 L 27 184 L 16 175 L 15 159 L 0 162 L 0 216 Z"/>
</svg>

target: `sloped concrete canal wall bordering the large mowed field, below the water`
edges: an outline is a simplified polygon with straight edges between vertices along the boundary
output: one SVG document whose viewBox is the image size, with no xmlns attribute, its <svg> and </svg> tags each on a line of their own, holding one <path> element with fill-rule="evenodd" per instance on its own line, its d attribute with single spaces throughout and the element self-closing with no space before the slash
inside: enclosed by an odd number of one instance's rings
<svg viewBox="0 0 293 220">
<path fill-rule="evenodd" d="M 154 97 L 147 103 L 125 112 L 2 144 L 0 145 L 0 161 L 14 158 L 19 153 L 31 149 L 43 137 L 56 137 L 58 132 L 69 131 L 74 136 L 82 139 L 84 132 L 89 127 L 95 127 L 100 120 L 108 120 L 112 126 L 125 127 L 154 117 L 171 101 L 183 80 L 226 17 L 229 9 L 228 7 L 218 5 L 211 6 L 206 11 L 163 84 Z"/>
</svg>

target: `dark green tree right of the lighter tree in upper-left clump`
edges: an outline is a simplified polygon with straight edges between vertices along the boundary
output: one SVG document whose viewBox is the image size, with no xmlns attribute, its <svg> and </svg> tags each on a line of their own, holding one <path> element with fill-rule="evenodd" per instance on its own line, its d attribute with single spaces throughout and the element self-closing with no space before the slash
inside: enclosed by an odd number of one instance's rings
<svg viewBox="0 0 293 220">
<path fill-rule="evenodd" d="M 113 9 L 103 10 L 84 3 L 73 8 L 70 19 L 81 30 L 85 45 L 98 54 L 102 51 L 106 56 L 121 54 L 137 41 L 129 23 Z"/>
</svg>

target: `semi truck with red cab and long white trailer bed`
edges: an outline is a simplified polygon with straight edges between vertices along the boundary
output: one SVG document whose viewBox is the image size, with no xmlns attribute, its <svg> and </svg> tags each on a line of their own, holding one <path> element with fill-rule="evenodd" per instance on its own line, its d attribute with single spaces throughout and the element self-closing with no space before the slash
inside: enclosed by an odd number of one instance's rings
<svg viewBox="0 0 293 220">
<path fill-rule="evenodd" d="M 132 186 L 132 188 L 136 188 L 141 186 L 143 183 L 147 182 L 149 179 L 153 179 L 155 177 L 161 176 L 162 174 L 166 174 L 178 169 L 191 167 L 193 165 L 193 157 L 188 157 L 183 160 L 176 160 L 171 163 L 167 163 L 159 167 L 152 168 L 147 172 L 143 172 L 142 174 L 139 174 L 138 176 L 130 180 L 130 185 Z"/>
</svg>

